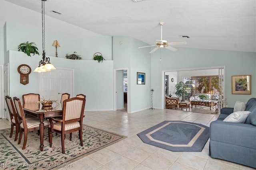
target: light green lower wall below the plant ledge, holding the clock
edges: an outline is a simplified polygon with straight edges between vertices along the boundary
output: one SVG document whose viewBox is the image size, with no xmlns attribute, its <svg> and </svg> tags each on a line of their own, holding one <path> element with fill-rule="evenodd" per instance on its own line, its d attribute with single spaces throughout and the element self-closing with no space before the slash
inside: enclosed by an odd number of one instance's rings
<svg viewBox="0 0 256 170">
<path fill-rule="evenodd" d="M 22 98 L 22 94 L 38 93 L 38 74 L 40 73 L 31 72 L 29 83 L 22 85 L 17 68 L 20 64 L 28 64 L 34 70 L 42 56 L 28 57 L 22 52 L 12 50 L 8 53 L 10 96 Z M 94 60 L 50 57 L 50 62 L 57 69 L 74 69 L 75 95 L 86 95 L 86 110 L 113 110 L 113 61 L 104 61 L 99 64 Z"/>
</svg>

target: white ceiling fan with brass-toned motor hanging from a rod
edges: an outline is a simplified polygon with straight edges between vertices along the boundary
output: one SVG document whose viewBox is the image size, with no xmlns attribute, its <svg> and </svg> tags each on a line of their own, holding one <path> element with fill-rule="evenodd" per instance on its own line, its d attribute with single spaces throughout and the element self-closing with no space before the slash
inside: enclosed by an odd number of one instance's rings
<svg viewBox="0 0 256 170">
<path fill-rule="evenodd" d="M 159 48 L 166 48 L 166 49 L 171 50 L 171 51 L 176 51 L 177 49 L 175 49 L 174 47 L 171 47 L 170 45 L 183 45 L 183 44 L 187 44 L 186 41 L 167 43 L 166 40 L 162 39 L 162 26 L 164 25 L 164 23 L 163 22 L 159 22 L 159 24 L 161 25 L 161 40 L 156 40 L 156 45 L 144 46 L 144 47 L 154 47 L 154 46 L 156 46 L 156 48 L 154 48 L 149 53 L 153 53 L 154 51 L 158 50 Z M 144 47 L 139 47 L 139 48 L 144 48 Z"/>
</svg>

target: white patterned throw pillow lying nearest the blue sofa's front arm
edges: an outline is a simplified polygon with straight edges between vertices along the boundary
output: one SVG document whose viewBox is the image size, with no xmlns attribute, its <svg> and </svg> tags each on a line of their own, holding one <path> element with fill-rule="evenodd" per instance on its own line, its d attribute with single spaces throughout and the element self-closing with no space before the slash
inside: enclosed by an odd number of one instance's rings
<svg viewBox="0 0 256 170">
<path fill-rule="evenodd" d="M 223 121 L 244 123 L 250 113 L 250 111 L 236 111 L 228 115 Z"/>
</svg>

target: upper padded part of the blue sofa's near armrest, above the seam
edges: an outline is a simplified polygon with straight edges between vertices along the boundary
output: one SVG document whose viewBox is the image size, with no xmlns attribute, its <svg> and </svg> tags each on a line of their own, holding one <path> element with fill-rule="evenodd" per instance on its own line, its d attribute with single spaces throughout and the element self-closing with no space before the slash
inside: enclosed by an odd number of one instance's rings
<svg viewBox="0 0 256 170">
<path fill-rule="evenodd" d="M 210 141 L 256 149 L 256 126 L 245 123 L 212 121 Z"/>
</svg>

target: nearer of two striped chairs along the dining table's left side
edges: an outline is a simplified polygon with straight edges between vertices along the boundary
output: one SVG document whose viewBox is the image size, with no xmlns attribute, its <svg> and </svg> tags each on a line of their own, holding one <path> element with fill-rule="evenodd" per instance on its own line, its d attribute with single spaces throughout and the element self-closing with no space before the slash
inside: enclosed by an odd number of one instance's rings
<svg viewBox="0 0 256 170">
<path fill-rule="evenodd" d="M 34 131 L 34 130 L 39 130 L 39 125 L 40 125 L 40 119 L 35 117 L 34 119 L 26 119 L 22 105 L 20 103 L 20 99 L 17 97 L 13 98 L 14 100 L 14 106 L 16 107 L 18 119 L 20 121 L 20 136 L 19 136 L 19 141 L 18 144 L 20 144 L 21 139 L 22 139 L 22 133 L 24 132 L 24 142 L 23 142 L 23 147 L 22 150 L 25 149 L 27 139 L 28 139 L 28 132 Z M 48 120 L 44 120 L 44 128 L 48 127 L 48 134 L 50 133 L 50 122 Z"/>
</svg>

